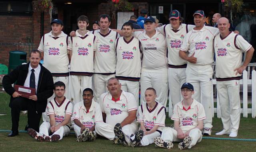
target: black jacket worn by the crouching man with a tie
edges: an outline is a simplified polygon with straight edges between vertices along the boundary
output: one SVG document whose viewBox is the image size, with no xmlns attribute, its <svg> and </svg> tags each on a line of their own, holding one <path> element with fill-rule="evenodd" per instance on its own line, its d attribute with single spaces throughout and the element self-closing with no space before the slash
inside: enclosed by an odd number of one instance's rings
<svg viewBox="0 0 256 152">
<path fill-rule="evenodd" d="M 14 99 L 14 97 L 12 97 L 12 94 L 15 92 L 12 84 L 16 82 L 17 85 L 24 86 L 25 80 L 28 75 L 29 64 L 30 62 L 18 66 L 16 69 L 10 72 L 10 74 L 4 76 L 2 80 L 4 90 L 11 96 L 10 103 Z M 36 102 L 36 111 L 38 113 L 43 113 L 46 109 L 47 99 L 53 94 L 53 79 L 52 74 L 49 70 L 42 66 L 41 63 L 39 63 L 39 66 L 41 66 L 41 70 L 39 74 L 38 87 L 36 92 L 38 101 L 34 102 Z"/>
</svg>

